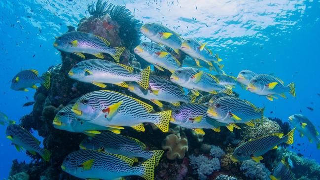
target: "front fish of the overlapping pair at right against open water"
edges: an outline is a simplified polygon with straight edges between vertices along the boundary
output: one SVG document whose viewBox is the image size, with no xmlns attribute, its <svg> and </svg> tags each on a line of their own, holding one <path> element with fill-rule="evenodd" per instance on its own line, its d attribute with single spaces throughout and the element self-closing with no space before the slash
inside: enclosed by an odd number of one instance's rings
<svg viewBox="0 0 320 180">
<path fill-rule="evenodd" d="M 295 97 L 293 82 L 285 86 L 281 79 L 268 74 L 258 74 L 252 77 L 247 89 L 252 93 L 266 96 L 270 101 L 277 98 L 273 95 L 279 95 L 286 99 L 284 95 L 285 92 L 289 92 L 293 97 Z"/>
</svg>

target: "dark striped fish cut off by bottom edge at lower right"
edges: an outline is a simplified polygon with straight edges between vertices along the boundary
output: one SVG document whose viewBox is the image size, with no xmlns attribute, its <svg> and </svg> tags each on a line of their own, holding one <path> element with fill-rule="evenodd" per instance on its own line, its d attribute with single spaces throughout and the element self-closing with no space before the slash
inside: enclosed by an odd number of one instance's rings
<svg viewBox="0 0 320 180">
<path fill-rule="evenodd" d="M 291 171 L 291 166 L 286 162 L 285 157 L 273 170 L 273 175 L 269 176 L 271 180 L 295 180 L 295 176 Z"/>
</svg>

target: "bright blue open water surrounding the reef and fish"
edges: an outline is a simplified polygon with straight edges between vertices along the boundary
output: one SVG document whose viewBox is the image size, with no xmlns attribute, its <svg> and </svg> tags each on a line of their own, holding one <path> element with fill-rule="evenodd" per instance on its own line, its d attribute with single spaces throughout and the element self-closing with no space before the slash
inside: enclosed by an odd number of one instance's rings
<svg viewBox="0 0 320 180">
<path fill-rule="evenodd" d="M 0 111 L 19 120 L 31 112 L 22 108 L 33 101 L 35 90 L 19 92 L 10 89 L 9 81 L 19 71 L 36 69 L 45 72 L 61 62 L 53 48 L 55 36 L 76 26 L 85 16 L 91 0 L 1 0 L 0 1 Z M 119 4 L 116 1 L 111 2 Z M 137 19 L 161 22 L 181 34 L 207 42 L 219 53 L 224 70 L 232 75 L 244 69 L 257 73 L 274 73 L 285 84 L 295 82 L 296 98 L 270 102 L 264 97 L 237 88 L 240 97 L 258 107 L 266 107 L 265 116 L 285 121 L 300 113 L 314 122 L 318 130 L 320 114 L 320 3 L 317 0 L 275 0 L 238 2 L 229 0 L 123 0 Z M 144 39 L 144 37 L 143 37 Z M 313 111 L 306 107 L 314 108 Z M 273 111 L 273 113 L 271 113 Z M 7 178 L 11 161 L 30 161 L 0 136 L 0 179 Z M 304 156 L 320 162 L 319 150 L 306 138 L 295 136 L 294 148 Z M 297 144 L 304 145 L 298 146 Z"/>
</svg>

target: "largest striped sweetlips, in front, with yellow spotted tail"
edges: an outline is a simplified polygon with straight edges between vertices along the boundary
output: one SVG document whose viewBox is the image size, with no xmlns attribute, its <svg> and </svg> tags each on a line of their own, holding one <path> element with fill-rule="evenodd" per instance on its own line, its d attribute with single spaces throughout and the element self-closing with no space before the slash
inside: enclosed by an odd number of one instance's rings
<svg viewBox="0 0 320 180">
<path fill-rule="evenodd" d="M 90 123 L 108 128 L 130 126 L 144 131 L 142 123 L 155 124 L 168 132 L 171 110 L 150 113 L 152 106 L 130 96 L 109 90 L 94 91 L 80 97 L 73 105 L 73 115 Z"/>
</svg>

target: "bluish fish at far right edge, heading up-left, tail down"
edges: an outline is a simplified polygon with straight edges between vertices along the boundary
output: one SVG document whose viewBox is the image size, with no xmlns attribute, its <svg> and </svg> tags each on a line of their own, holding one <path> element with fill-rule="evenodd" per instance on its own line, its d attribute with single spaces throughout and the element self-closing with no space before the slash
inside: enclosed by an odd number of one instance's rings
<svg viewBox="0 0 320 180">
<path fill-rule="evenodd" d="M 316 126 L 304 115 L 293 114 L 289 116 L 289 123 L 297 128 L 300 133 L 300 137 L 306 136 L 309 142 L 316 142 L 317 148 L 320 149 L 319 131 Z"/>
</svg>

